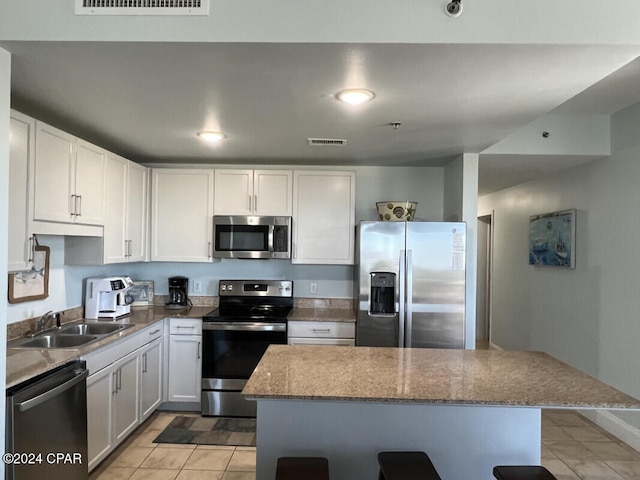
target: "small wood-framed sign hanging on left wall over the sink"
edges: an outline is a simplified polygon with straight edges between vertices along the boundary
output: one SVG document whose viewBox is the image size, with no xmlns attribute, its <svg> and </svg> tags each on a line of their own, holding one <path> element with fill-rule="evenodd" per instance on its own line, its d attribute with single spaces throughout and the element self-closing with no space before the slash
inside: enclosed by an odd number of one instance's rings
<svg viewBox="0 0 640 480">
<path fill-rule="evenodd" d="M 31 270 L 9 274 L 9 303 L 44 300 L 49 296 L 49 247 L 36 245 Z"/>
</svg>

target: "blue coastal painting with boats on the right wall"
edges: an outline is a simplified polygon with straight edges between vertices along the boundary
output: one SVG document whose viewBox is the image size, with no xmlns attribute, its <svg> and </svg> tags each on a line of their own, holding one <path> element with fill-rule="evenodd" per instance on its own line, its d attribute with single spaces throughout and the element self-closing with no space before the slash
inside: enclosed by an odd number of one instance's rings
<svg viewBox="0 0 640 480">
<path fill-rule="evenodd" d="M 576 210 L 529 217 L 529 265 L 576 267 Z"/>
</svg>

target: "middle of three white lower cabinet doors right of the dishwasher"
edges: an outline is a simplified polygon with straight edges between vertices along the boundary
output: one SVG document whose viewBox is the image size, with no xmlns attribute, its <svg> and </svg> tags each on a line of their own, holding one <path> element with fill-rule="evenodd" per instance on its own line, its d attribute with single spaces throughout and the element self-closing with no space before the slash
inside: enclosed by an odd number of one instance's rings
<svg viewBox="0 0 640 480">
<path fill-rule="evenodd" d="M 130 354 L 118 361 L 114 372 L 113 396 L 114 436 L 117 445 L 135 430 L 140 419 L 138 390 L 139 355 Z"/>
</svg>

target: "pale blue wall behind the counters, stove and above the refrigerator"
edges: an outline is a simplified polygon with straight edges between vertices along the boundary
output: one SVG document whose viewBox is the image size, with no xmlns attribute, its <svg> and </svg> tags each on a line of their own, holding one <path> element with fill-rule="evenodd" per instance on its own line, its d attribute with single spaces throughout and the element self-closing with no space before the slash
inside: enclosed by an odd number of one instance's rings
<svg viewBox="0 0 640 480">
<path fill-rule="evenodd" d="M 202 167 L 200 165 L 200 167 Z M 317 167 L 321 168 L 321 167 Z M 415 200 L 417 217 L 442 220 L 443 169 L 440 167 L 357 167 L 356 221 L 377 219 L 379 200 Z M 353 267 L 348 265 L 292 265 L 287 260 L 229 259 L 208 263 L 134 263 L 96 267 L 64 264 L 64 237 L 39 235 L 40 244 L 51 248 L 49 298 L 9 305 L 8 322 L 39 316 L 48 310 L 64 310 L 84 303 L 84 279 L 101 275 L 130 275 L 134 280 L 153 280 L 155 291 L 166 294 L 167 279 L 184 275 L 202 282 L 202 293 L 217 295 L 218 281 L 225 278 L 287 278 L 294 281 L 296 297 L 352 298 Z M 310 283 L 317 283 L 311 294 Z M 192 294 L 193 295 L 193 294 Z"/>
</svg>

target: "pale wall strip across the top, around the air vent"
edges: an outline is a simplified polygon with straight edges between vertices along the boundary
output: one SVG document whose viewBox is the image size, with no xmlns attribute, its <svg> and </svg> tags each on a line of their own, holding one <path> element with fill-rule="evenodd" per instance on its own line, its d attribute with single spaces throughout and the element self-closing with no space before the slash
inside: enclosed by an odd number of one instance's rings
<svg viewBox="0 0 640 480">
<path fill-rule="evenodd" d="M 211 1 L 208 17 L 76 16 L 73 1 L 2 0 L 0 40 L 640 44 L 636 0 Z"/>
</svg>

